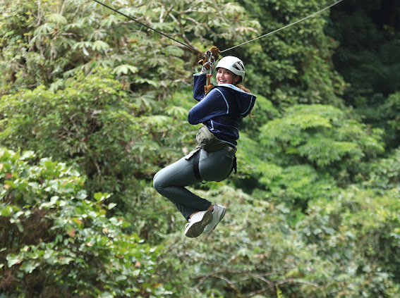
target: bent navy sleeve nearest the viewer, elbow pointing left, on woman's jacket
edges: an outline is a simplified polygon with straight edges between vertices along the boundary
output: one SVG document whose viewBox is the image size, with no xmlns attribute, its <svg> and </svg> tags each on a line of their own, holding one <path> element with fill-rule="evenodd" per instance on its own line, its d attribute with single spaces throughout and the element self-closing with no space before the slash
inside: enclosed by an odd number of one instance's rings
<svg viewBox="0 0 400 298">
<path fill-rule="evenodd" d="M 193 106 L 188 113 L 190 124 L 203 123 L 216 116 L 229 113 L 229 102 L 219 88 L 214 88 L 198 104 Z"/>
</svg>

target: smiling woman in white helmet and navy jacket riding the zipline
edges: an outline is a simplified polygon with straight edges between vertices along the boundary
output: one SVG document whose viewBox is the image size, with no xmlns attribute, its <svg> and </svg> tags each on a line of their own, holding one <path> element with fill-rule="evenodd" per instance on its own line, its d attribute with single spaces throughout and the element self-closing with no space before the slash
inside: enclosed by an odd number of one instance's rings
<svg viewBox="0 0 400 298">
<path fill-rule="evenodd" d="M 234 56 L 222 58 L 216 67 L 217 85 L 205 94 L 207 75 L 204 68 L 193 76 L 193 97 L 199 101 L 190 109 L 188 121 L 192 125 L 203 123 L 196 139 L 202 148 L 190 152 L 176 163 L 154 175 L 154 188 L 172 201 L 189 221 L 185 235 L 198 237 L 209 234 L 225 215 L 226 207 L 212 204 L 186 189 L 199 181 L 222 181 L 234 168 L 239 127 L 243 117 L 250 114 L 255 96 L 239 85 L 245 76 L 243 62 Z M 201 137 L 204 132 L 210 141 Z M 209 146 L 210 147 L 210 146 Z M 207 150 L 206 150 L 207 149 Z"/>
</svg>

